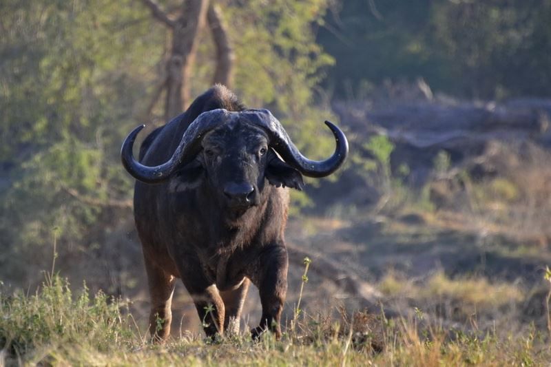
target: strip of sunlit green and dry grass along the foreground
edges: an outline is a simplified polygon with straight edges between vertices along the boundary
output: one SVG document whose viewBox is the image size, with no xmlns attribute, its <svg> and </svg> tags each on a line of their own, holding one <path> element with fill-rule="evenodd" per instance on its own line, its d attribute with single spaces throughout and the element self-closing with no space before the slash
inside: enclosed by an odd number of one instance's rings
<svg viewBox="0 0 551 367">
<path fill-rule="evenodd" d="M 178 365 L 178 366 L 537 366 L 551 360 L 546 333 L 497 337 L 419 326 L 413 319 L 387 320 L 342 311 L 342 317 L 307 315 L 280 341 L 264 335 L 252 342 L 247 333 L 211 344 L 200 335 L 171 337 L 163 345 L 148 342 L 127 302 L 85 286 L 78 294 L 66 280 L 51 277 L 34 295 L 0 294 L 0 366 Z"/>
</svg>

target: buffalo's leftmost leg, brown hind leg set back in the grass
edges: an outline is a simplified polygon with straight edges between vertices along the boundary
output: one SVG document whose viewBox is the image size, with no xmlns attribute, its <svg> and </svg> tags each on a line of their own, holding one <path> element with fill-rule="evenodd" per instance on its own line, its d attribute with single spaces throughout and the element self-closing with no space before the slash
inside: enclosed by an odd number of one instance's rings
<svg viewBox="0 0 551 367">
<path fill-rule="evenodd" d="M 149 312 L 149 333 L 154 342 L 164 342 L 170 335 L 172 320 L 172 295 L 174 294 L 174 277 L 145 259 L 151 311 Z"/>
</svg>

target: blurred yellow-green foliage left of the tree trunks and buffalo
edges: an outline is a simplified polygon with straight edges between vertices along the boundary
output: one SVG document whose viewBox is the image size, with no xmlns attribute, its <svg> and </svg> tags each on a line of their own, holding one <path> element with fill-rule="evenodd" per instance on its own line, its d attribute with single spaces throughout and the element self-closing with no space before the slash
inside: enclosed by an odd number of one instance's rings
<svg viewBox="0 0 551 367">
<path fill-rule="evenodd" d="M 54 226 L 63 260 L 90 261 L 120 223 L 118 146 L 153 81 L 143 55 L 162 43 L 148 21 L 131 1 L 1 3 L 0 268 L 16 284 L 38 280 Z"/>
</svg>

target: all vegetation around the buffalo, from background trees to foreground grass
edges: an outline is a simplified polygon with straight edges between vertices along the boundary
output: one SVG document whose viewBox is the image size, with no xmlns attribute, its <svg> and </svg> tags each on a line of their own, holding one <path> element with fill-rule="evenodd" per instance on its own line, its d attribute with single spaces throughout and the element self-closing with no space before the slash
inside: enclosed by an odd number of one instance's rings
<svg viewBox="0 0 551 367">
<path fill-rule="evenodd" d="M 548 0 L 1 1 L 0 365 L 548 364 L 550 16 Z M 293 193 L 281 341 L 251 342 L 252 290 L 242 333 L 204 340 L 180 287 L 152 345 L 118 151 L 215 82 L 309 156 L 332 151 L 333 120 L 351 157 Z"/>
</svg>

